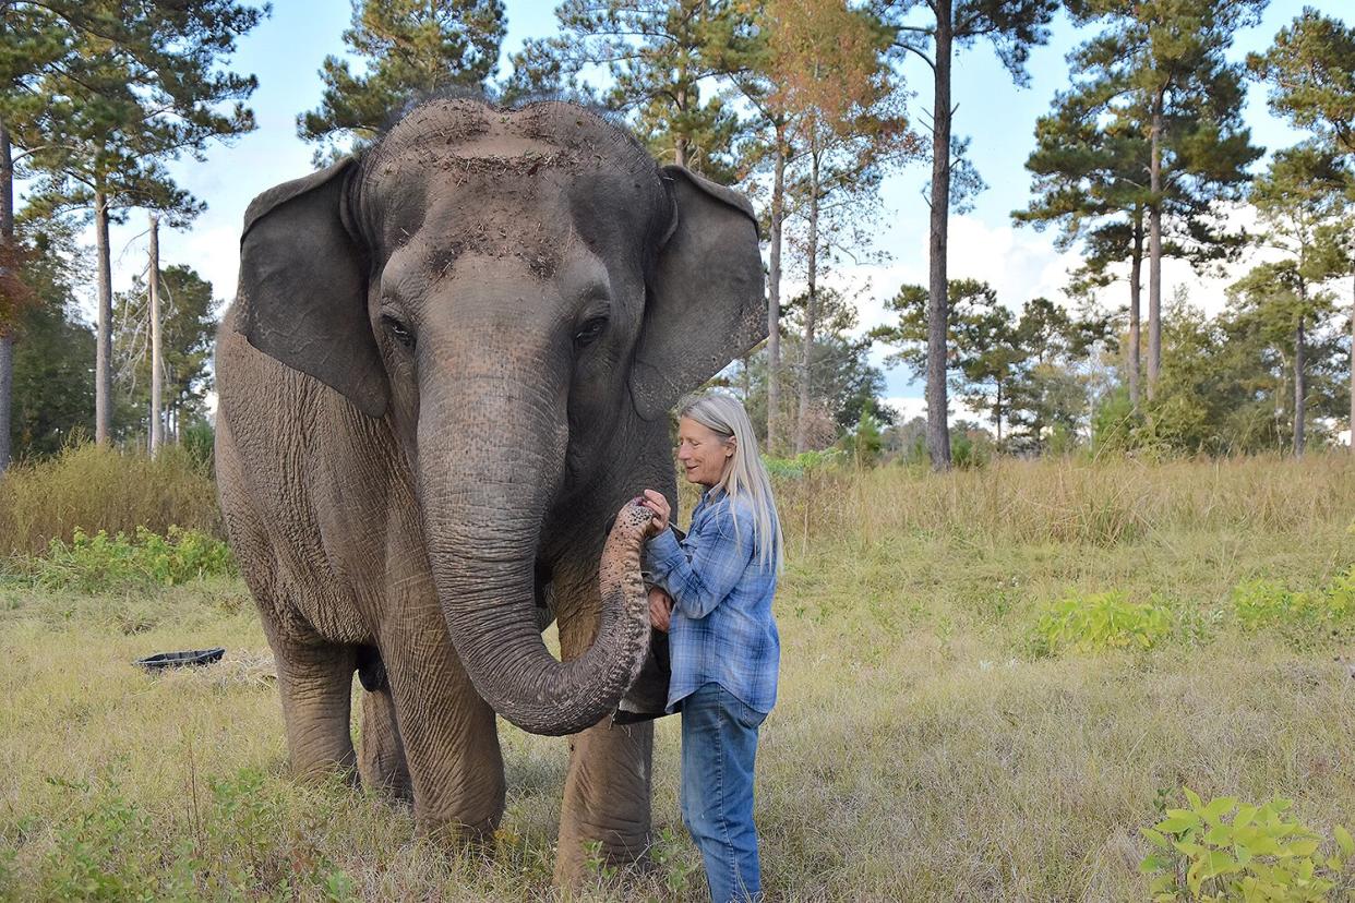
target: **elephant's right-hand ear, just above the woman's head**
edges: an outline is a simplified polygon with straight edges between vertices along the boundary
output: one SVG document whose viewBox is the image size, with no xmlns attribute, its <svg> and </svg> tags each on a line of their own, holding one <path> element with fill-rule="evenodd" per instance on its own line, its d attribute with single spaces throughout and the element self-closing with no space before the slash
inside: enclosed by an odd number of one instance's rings
<svg viewBox="0 0 1355 903">
<path fill-rule="evenodd" d="M 630 393 L 645 420 L 661 417 L 767 337 L 757 219 L 737 191 L 664 167 L 676 223 L 659 255 Z"/>
</svg>

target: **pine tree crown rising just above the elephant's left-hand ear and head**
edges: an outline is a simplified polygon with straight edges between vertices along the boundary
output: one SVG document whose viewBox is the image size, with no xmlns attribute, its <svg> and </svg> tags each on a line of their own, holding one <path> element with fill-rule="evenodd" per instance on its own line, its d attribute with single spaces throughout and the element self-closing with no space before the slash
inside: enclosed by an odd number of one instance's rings
<svg viewBox="0 0 1355 903">
<path fill-rule="evenodd" d="M 297 116 L 297 134 L 320 142 L 316 157 L 371 141 L 412 100 L 439 91 L 482 91 L 499 68 L 507 20 L 503 0 L 352 0 L 343 32 L 366 64 L 325 57 L 320 107 Z"/>
</svg>

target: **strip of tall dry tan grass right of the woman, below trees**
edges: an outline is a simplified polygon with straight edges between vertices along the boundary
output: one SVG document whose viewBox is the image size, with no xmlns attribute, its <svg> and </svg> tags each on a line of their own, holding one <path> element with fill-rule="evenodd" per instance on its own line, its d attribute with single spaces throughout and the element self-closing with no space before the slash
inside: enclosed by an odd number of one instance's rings
<svg viewBox="0 0 1355 903">
<path fill-rule="evenodd" d="M 1003 459 L 936 475 L 825 470 L 778 485 L 791 554 L 822 536 L 943 533 L 1114 546 L 1163 531 L 1290 532 L 1355 510 L 1355 456 L 1142 463 Z"/>
</svg>

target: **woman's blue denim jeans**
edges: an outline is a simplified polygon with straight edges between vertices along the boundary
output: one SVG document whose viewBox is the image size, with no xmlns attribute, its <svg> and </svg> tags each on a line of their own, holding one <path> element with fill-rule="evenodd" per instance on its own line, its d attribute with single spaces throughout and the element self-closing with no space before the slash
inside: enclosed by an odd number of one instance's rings
<svg viewBox="0 0 1355 903">
<path fill-rule="evenodd" d="M 714 903 L 760 899 L 753 758 L 764 718 L 714 682 L 682 701 L 682 816 Z"/>
</svg>

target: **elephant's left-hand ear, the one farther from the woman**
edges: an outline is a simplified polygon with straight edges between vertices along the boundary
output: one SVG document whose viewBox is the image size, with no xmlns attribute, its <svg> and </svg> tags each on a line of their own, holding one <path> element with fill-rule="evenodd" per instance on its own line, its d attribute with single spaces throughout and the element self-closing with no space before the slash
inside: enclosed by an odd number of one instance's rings
<svg viewBox="0 0 1355 903">
<path fill-rule="evenodd" d="M 245 211 L 234 329 L 381 417 L 390 386 L 367 320 L 364 250 L 344 223 L 347 158 L 263 192 Z"/>
</svg>

